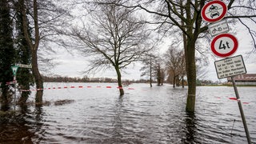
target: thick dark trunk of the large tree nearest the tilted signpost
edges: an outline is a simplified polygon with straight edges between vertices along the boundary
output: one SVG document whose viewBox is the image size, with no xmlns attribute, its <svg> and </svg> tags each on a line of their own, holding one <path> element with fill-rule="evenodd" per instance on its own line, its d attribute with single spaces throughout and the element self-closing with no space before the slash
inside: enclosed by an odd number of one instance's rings
<svg viewBox="0 0 256 144">
<path fill-rule="evenodd" d="M 195 94 L 196 94 L 196 66 L 195 66 L 195 40 L 194 38 L 187 38 L 185 47 L 186 53 L 186 75 L 188 82 L 188 95 L 186 99 L 186 111 L 194 112 Z"/>
</svg>

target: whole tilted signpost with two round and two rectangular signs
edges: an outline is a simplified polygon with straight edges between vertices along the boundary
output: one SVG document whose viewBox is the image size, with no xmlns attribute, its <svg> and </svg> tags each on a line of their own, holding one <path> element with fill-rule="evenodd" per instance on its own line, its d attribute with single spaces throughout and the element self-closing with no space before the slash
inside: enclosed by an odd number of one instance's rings
<svg viewBox="0 0 256 144">
<path fill-rule="evenodd" d="M 238 107 L 242 117 L 242 123 L 246 131 L 247 142 L 251 143 L 249 130 L 246 125 L 246 118 L 238 94 L 238 88 L 234 81 L 235 75 L 246 74 L 246 66 L 243 62 L 242 55 L 228 58 L 238 50 L 238 40 L 232 34 L 223 34 L 230 30 L 229 26 L 226 21 L 218 21 L 222 20 L 226 13 L 227 6 L 225 2 L 214 0 L 206 3 L 206 5 L 202 7 L 201 16 L 206 22 L 215 22 L 208 26 L 210 35 L 212 37 L 217 35 L 211 42 L 210 49 L 217 57 L 225 58 L 214 62 L 215 69 L 219 79 L 228 77 L 232 79 L 234 93 L 237 97 Z"/>
</svg>

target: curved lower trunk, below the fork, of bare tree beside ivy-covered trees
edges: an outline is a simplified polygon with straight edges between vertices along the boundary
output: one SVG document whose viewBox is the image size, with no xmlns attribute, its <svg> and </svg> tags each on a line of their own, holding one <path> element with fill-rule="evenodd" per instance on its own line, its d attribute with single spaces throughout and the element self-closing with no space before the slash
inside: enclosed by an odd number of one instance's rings
<svg viewBox="0 0 256 144">
<path fill-rule="evenodd" d="M 32 72 L 34 75 L 34 81 L 37 86 L 37 94 L 35 97 L 36 105 L 42 104 L 42 92 L 43 92 L 43 82 L 42 76 L 38 70 L 38 55 L 36 50 L 32 50 Z"/>
</svg>

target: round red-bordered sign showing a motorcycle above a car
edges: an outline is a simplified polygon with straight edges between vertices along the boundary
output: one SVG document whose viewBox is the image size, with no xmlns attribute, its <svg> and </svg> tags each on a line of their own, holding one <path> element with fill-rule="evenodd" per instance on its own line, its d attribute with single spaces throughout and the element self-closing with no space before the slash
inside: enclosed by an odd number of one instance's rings
<svg viewBox="0 0 256 144">
<path fill-rule="evenodd" d="M 222 1 L 211 1 L 202 7 L 201 16 L 206 22 L 217 22 L 225 17 L 226 4 Z"/>
</svg>

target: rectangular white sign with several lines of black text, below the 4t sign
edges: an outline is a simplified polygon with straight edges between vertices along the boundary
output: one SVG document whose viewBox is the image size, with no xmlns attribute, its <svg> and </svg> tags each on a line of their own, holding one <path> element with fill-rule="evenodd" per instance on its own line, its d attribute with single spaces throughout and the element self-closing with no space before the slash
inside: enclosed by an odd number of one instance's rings
<svg viewBox="0 0 256 144">
<path fill-rule="evenodd" d="M 246 74 L 246 66 L 243 62 L 242 55 L 216 61 L 214 65 L 219 79 Z"/>
</svg>

